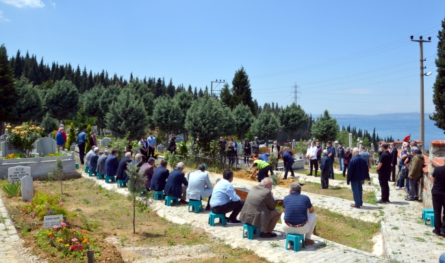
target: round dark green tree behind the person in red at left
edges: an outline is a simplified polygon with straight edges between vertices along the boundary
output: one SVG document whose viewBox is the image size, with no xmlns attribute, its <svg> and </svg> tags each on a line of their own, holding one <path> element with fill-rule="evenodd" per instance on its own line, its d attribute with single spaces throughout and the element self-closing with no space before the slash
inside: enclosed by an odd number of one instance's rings
<svg viewBox="0 0 445 263">
<path fill-rule="evenodd" d="M 49 89 L 44 102 L 51 116 L 64 120 L 74 116 L 79 109 L 79 93 L 71 81 L 62 79 Z"/>
</svg>

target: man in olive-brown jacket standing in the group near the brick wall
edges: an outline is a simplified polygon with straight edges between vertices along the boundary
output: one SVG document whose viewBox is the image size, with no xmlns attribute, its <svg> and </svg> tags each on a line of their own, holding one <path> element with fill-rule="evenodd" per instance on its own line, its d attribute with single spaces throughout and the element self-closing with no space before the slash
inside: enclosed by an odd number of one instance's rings
<svg viewBox="0 0 445 263">
<path fill-rule="evenodd" d="M 411 154 L 413 154 L 413 158 L 411 159 L 411 163 L 409 163 L 409 195 L 407 198 L 405 198 L 405 200 L 417 201 L 419 199 L 417 195 L 419 190 L 419 180 L 423 175 L 422 168 L 425 160 L 423 155 L 420 153 L 419 148 L 416 146 L 411 147 Z"/>
</svg>

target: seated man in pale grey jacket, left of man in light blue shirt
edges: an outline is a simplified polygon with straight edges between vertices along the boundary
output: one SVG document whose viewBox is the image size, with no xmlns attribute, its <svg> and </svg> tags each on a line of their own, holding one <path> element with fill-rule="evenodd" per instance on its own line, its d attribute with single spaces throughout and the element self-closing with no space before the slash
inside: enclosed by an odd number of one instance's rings
<svg viewBox="0 0 445 263">
<path fill-rule="evenodd" d="M 213 186 L 210 182 L 209 175 L 205 173 L 204 165 L 199 165 L 198 171 L 190 172 L 189 176 L 187 198 L 193 201 L 200 201 L 209 197 L 205 210 L 210 210 Z"/>
</svg>

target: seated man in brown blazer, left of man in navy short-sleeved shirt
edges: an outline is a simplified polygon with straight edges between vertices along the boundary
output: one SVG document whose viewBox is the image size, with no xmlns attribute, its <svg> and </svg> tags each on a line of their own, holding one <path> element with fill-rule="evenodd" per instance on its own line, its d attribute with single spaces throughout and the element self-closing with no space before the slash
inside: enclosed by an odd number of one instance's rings
<svg viewBox="0 0 445 263">
<path fill-rule="evenodd" d="M 280 214 L 281 212 L 275 209 L 272 179 L 266 177 L 249 191 L 240 219 L 261 229 L 262 238 L 273 238 L 277 236 L 272 230 L 277 225 Z"/>
</svg>

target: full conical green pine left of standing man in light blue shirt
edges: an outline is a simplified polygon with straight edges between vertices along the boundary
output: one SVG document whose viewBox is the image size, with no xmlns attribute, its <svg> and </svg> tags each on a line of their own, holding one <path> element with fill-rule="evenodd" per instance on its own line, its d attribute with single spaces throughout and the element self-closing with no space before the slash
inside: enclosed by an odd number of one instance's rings
<svg viewBox="0 0 445 263">
<path fill-rule="evenodd" d="M 139 98 L 130 89 L 123 89 L 117 100 L 110 106 L 105 116 L 107 128 L 117 136 L 123 137 L 129 132 L 129 139 L 138 139 L 149 125 L 147 111 Z"/>
</svg>

